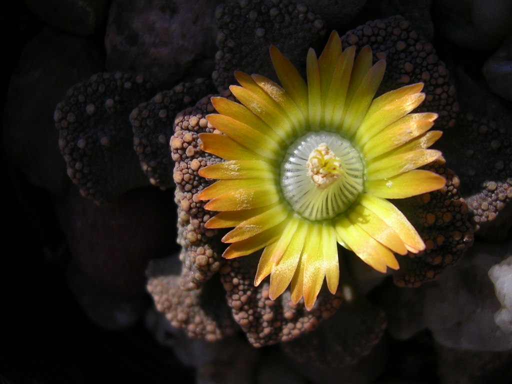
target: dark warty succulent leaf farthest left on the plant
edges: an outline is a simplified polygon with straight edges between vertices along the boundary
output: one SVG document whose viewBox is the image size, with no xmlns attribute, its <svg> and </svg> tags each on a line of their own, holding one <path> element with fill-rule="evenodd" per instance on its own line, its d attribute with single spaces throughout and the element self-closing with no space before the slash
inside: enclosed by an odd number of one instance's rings
<svg viewBox="0 0 512 384">
<path fill-rule="evenodd" d="M 130 112 L 154 94 L 131 73 L 96 73 L 74 84 L 55 108 L 59 148 L 69 178 L 97 204 L 149 185 L 134 151 Z"/>
</svg>

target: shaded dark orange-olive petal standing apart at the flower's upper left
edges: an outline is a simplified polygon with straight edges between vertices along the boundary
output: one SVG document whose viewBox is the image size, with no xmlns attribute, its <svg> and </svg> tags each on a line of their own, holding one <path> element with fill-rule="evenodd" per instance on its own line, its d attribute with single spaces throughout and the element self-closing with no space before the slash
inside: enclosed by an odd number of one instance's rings
<svg viewBox="0 0 512 384">
<path fill-rule="evenodd" d="M 307 111 L 308 87 L 300 73 L 298 73 L 291 61 L 274 46 L 270 46 L 270 57 L 275 73 L 278 75 L 279 81 L 286 93 L 290 95 L 302 111 Z"/>
</svg>

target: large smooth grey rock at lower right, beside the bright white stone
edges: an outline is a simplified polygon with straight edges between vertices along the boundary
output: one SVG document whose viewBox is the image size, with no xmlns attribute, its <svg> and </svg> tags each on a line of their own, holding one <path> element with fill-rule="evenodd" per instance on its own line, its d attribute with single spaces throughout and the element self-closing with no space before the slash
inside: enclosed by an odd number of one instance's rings
<svg viewBox="0 0 512 384">
<path fill-rule="evenodd" d="M 447 269 L 425 292 L 424 322 L 448 348 L 475 351 L 512 349 L 512 334 L 494 321 L 500 308 L 487 271 L 510 255 L 510 244 L 477 244 L 458 267 Z"/>
</svg>

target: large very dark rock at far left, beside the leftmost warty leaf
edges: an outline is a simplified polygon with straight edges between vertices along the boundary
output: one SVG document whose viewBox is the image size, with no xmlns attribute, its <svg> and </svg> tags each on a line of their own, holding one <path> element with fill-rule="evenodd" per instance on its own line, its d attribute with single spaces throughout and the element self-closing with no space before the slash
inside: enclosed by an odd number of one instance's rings
<svg viewBox="0 0 512 384">
<path fill-rule="evenodd" d="M 29 181 L 63 196 L 69 179 L 53 122 L 55 104 L 75 82 L 103 65 L 86 37 L 42 29 L 25 45 L 11 76 L 4 115 L 4 153 Z"/>
</svg>

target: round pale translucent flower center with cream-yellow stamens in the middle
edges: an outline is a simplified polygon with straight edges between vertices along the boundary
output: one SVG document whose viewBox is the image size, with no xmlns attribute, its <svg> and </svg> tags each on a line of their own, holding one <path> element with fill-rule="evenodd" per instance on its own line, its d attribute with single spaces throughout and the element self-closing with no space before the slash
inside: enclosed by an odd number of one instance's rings
<svg viewBox="0 0 512 384">
<path fill-rule="evenodd" d="M 309 220 L 345 212 L 363 190 L 364 165 L 350 141 L 310 132 L 290 145 L 281 165 L 281 189 L 293 210 Z"/>
</svg>

